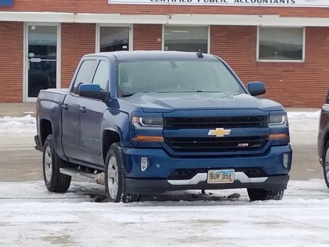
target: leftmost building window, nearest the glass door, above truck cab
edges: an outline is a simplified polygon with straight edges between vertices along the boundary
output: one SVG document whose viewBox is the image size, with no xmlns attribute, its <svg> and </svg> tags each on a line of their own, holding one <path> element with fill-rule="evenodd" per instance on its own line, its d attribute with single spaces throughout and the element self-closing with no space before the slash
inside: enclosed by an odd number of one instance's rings
<svg viewBox="0 0 329 247">
<path fill-rule="evenodd" d="M 99 51 L 129 50 L 129 27 L 100 27 Z"/>
</svg>

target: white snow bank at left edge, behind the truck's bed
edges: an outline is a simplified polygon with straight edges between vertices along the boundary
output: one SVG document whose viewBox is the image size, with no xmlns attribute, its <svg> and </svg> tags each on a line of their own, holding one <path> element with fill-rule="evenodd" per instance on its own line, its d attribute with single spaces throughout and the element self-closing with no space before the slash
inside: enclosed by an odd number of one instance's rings
<svg viewBox="0 0 329 247">
<path fill-rule="evenodd" d="M 34 135 L 36 133 L 35 117 L 0 117 L 0 133 Z"/>
</svg>

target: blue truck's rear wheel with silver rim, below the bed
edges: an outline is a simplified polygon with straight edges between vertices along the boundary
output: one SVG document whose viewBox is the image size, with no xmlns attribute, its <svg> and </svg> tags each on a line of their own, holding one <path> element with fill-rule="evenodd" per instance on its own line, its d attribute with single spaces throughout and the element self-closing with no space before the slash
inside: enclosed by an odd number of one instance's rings
<svg viewBox="0 0 329 247">
<path fill-rule="evenodd" d="M 43 179 L 51 192 L 65 192 L 71 183 L 71 177 L 60 173 L 63 161 L 57 155 L 52 135 L 48 135 L 42 152 Z"/>
</svg>

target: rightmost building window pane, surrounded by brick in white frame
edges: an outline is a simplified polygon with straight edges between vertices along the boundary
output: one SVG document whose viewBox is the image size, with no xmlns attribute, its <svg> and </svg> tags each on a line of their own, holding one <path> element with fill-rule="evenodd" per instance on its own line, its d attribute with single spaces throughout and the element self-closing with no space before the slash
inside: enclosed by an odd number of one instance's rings
<svg viewBox="0 0 329 247">
<path fill-rule="evenodd" d="M 303 61 L 304 28 L 259 27 L 259 60 Z"/>
</svg>

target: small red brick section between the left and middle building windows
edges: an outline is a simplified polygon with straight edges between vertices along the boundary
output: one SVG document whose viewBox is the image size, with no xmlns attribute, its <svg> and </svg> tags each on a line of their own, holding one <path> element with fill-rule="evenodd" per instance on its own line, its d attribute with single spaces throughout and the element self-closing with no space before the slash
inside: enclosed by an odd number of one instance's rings
<svg viewBox="0 0 329 247">
<path fill-rule="evenodd" d="M 161 50 L 162 25 L 134 25 L 134 50 Z"/>
</svg>

